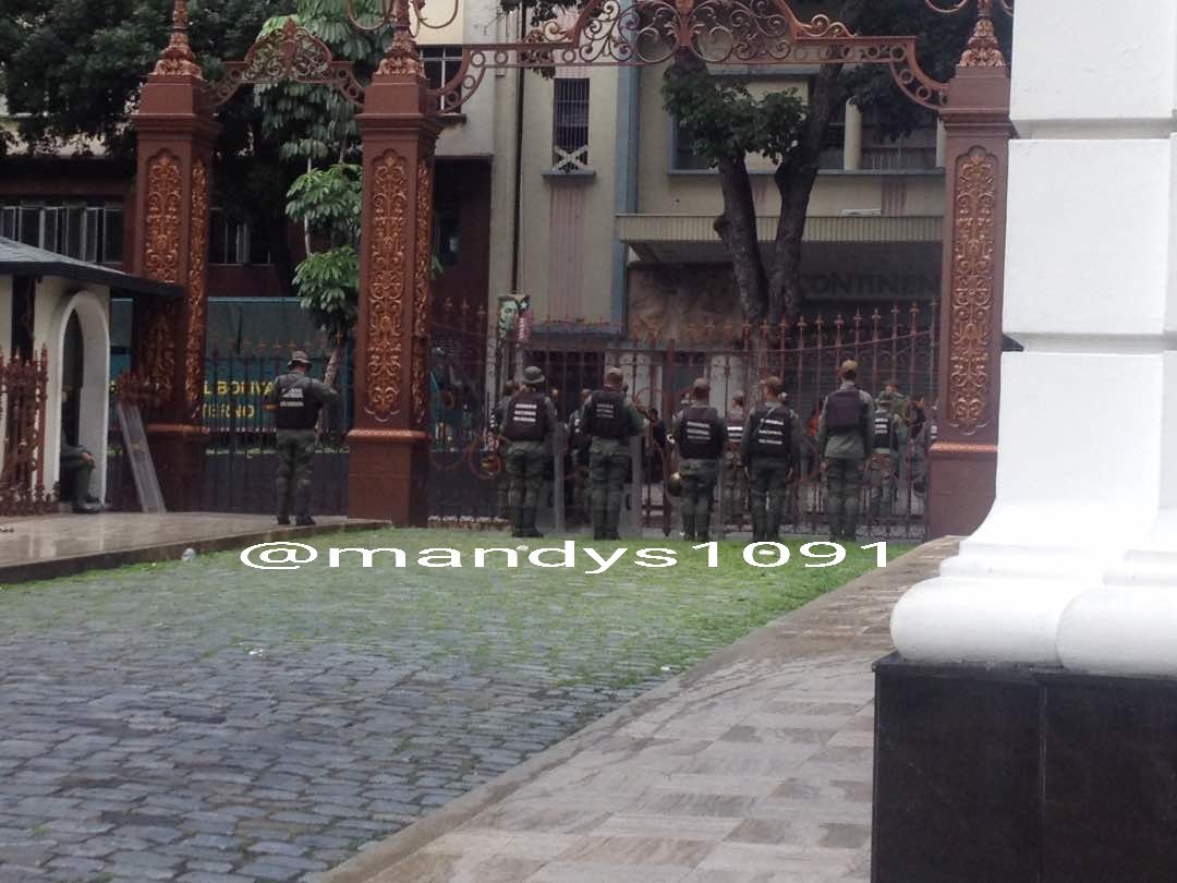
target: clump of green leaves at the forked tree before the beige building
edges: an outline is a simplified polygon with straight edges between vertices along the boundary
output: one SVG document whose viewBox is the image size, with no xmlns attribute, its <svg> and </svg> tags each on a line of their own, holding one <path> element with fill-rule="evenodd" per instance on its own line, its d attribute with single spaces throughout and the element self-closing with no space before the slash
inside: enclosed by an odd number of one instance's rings
<svg viewBox="0 0 1177 883">
<path fill-rule="evenodd" d="M 701 66 L 674 65 L 663 81 L 666 108 L 691 133 L 692 150 L 712 166 L 720 159 L 763 153 L 774 162 L 797 144 L 805 104 L 796 89 L 753 98 L 747 87 Z"/>
</svg>

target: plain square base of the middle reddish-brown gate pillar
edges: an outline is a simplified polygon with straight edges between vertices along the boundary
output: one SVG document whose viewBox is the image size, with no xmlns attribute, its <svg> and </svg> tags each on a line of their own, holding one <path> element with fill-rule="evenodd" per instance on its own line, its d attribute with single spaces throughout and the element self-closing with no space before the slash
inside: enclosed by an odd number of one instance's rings
<svg viewBox="0 0 1177 883">
<path fill-rule="evenodd" d="M 430 438 L 414 430 L 347 434 L 347 516 L 398 527 L 428 525 Z"/>
</svg>

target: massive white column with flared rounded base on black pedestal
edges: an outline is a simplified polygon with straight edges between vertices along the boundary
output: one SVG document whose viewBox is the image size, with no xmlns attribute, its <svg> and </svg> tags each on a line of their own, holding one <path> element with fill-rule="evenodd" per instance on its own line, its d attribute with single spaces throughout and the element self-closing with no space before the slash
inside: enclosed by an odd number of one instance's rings
<svg viewBox="0 0 1177 883">
<path fill-rule="evenodd" d="M 1177 675 L 1177 0 L 1019 5 L 1012 89 L 997 500 L 892 637 Z"/>
</svg>

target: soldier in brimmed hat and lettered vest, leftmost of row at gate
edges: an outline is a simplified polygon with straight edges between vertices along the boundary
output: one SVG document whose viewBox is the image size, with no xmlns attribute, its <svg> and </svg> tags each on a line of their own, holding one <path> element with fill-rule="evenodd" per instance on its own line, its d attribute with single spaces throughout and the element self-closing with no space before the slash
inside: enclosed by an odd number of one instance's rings
<svg viewBox="0 0 1177 883">
<path fill-rule="evenodd" d="M 507 401 L 503 436 L 511 443 L 504 457 L 507 480 L 507 510 L 512 537 L 543 537 L 536 529 L 536 510 L 544 484 L 544 466 L 552 456 L 551 437 L 556 430 L 556 406 L 540 390 L 544 372 L 534 365 L 523 372 L 523 390 Z"/>
</svg>

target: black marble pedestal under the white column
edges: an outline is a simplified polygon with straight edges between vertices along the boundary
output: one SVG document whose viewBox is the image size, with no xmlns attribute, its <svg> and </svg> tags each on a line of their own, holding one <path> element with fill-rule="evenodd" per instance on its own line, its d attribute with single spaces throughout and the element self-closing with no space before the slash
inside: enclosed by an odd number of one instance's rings
<svg viewBox="0 0 1177 883">
<path fill-rule="evenodd" d="M 873 883 L 1177 882 L 1177 679 L 875 671 Z"/>
</svg>

